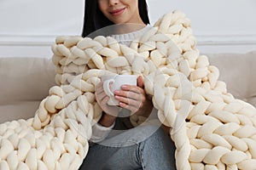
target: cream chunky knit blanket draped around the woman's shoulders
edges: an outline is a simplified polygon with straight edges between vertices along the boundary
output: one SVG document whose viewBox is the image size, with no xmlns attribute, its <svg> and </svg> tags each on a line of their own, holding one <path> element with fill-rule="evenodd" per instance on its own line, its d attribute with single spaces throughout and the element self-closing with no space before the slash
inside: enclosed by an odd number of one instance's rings
<svg viewBox="0 0 256 170">
<path fill-rule="evenodd" d="M 158 118 L 171 127 L 177 169 L 256 169 L 256 110 L 218 81 L 195 48 L 185 14 L 165 14 L 131 47 L 112 37 L 56 37 L 59 86 L 35 116 L 0 125 L 0 169 L 78 169 L 101 117 L 95 86 L 106 74 L 143 76 Z M 131 116 L 134 126 L 144 120 Z"/>
</svg>

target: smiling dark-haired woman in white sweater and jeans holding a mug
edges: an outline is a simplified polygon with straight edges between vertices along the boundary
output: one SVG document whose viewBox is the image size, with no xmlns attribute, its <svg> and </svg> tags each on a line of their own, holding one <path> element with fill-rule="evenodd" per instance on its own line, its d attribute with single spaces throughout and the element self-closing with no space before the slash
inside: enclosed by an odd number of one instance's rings
<svg viewBox="0 0 256 170">
<path fill-rule="evenodd" d="M 132 30 L 112 35 L 120 43 L 129 45 L 137 36 L 143 36 L 150 29 L 146 1 L 85 0 L 83 37 L 113 24 L 127 24 L 128 30 Z M 153 104 L 143 89 L 143 77 L 137 78 L 137 86 L 125 85 L 114 94 L 119 107 L 107 104 L 109 97 L 104 93 L 102 82 L 96 86 L 96 101 L 102 108 L 102 117 L 92 127 L 90 150 L 79 169 L 176 169 L 175 147 L 159 124 L 132 127 L 129 117 L 120 116 L 120 108 L 122 113 L 154 116 Z"/>
</svg>

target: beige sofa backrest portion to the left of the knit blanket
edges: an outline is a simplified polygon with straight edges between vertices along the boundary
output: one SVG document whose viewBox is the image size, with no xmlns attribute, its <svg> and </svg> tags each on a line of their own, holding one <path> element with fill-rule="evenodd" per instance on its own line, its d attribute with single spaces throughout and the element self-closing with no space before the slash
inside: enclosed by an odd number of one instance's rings
<svg viewBox="0 0 256 170">
<path fill-rule="evenodd" d="M 51 59 L 0 58 L 0 122 L 32 117 L 55 85 Z"/>
</svg>

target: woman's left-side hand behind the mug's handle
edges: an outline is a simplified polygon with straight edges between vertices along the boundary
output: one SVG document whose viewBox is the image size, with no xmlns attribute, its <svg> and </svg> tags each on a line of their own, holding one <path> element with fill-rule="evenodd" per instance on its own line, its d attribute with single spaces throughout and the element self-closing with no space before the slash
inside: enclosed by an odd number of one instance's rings
<svg viewBox="0 0 256 170">
<path fill-rule="evenodd" d="M 103 82 L 96 85 L 95 95 L 96 101 L 103 111 L 99 123 L 104 127 L 110 127 L 113 122 L 115 122 L 116 116 L 119 114 L 119 107 L 107 104 L 109 97 L 104 92 Z"/>
</svg>

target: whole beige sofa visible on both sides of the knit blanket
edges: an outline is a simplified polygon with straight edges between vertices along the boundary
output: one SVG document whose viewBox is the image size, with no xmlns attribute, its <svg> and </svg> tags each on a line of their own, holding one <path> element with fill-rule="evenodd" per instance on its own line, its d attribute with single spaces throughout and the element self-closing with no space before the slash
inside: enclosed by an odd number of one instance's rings
<svg viewBox="0 0 256 170">
<path fill-rule="evenodd" d="M 228 92 L 256 106 L 256 51 L 206 55 Z M 0 58 L 0 80 L 0 123 L 28 119 L 56 85 L 55 66 L 50 58 Z"/>
</svg>

